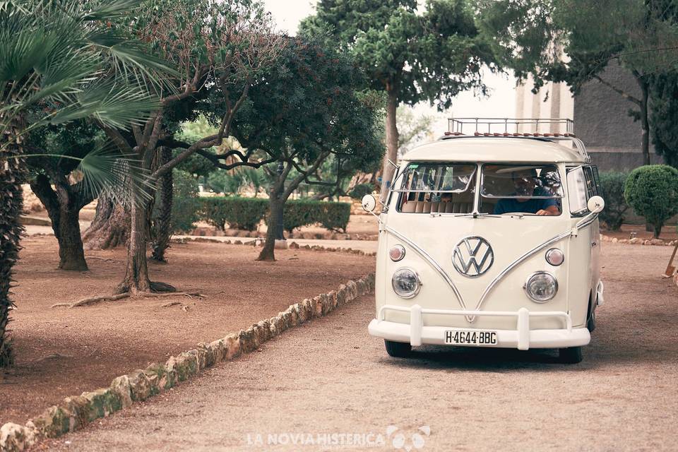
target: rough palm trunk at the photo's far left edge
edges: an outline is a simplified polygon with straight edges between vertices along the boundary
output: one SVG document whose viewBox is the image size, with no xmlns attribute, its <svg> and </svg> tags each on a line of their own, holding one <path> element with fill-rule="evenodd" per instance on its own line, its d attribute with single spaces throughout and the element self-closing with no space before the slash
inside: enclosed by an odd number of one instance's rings
<svg viewBox="0 0 678 452">
<path fill-rule="evenodd" d="M 0 367 L 10 367 L 14 364 L 7 325 L 10 321 L 9 311 L 13 303 L 9 298 L 12 287 L 13 266 L 19 254 L 19 240 L 23 227 L 19 222 L 19 215 L 23 209 L 23 193 L 21 184 L 25 177 L 25 162 L 22 159 L 11 158 L 21 155 L 20 139 L 16 130 L 0 135 Z"/>
</svg>

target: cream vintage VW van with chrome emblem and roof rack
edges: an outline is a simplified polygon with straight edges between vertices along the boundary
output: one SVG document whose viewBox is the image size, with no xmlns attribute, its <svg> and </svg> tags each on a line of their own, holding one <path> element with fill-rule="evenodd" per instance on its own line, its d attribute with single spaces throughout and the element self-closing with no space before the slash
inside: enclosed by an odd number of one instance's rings
<svg viewBox="0 0 678 452">
<path fill-rule="evenodd" d="M 530 124 L 455 119 L 396 167 L 369 323 L 389 355 L 438 344 L 557 348 L 562 362 L 581 361 L 603 301 L 597 169 L 571 121 L 550 123 L 564 133 L 507 131 Z M 371 195 L 363 207 L 374 210 Z"/>
</svg>

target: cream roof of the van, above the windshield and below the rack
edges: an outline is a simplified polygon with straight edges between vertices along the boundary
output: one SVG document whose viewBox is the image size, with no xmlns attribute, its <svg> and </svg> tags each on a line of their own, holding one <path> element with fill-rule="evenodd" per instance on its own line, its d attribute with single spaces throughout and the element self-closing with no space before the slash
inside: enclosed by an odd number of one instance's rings
<svg viewBox="0 0 678 452">
<path fill-rule="evenodd" d="M 581 149 L 572 147 L 577 144 Z M 446 136 L 417 146 L 406 153 L 403 160 L 585 163 L 589 158 L 581 141 L 523 136 Z"/>
</svg>

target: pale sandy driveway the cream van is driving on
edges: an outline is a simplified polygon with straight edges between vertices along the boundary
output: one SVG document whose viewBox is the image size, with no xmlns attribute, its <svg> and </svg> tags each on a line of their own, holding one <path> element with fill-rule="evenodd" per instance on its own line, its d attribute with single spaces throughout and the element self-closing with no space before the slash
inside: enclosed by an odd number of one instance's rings
<svg viewBox="0 0 678 452">
<path fill-rule="evenodd" d="M 447 347 L 393 359 L 367 335 L 373 299 L 363 297 L 36 450 L 341 448 L 293 444 L 307 434 L 374 441 L 351 450 L 420 450 L 419 439 L 425 451 L 676 450 L 678 290 L 658 277 L 670 250 L 602 251 L 607 303 L 581 364 L 557 364 L 550 350 Z M 379 434 L 384 446 L 368 447 Z"/>
</svg>

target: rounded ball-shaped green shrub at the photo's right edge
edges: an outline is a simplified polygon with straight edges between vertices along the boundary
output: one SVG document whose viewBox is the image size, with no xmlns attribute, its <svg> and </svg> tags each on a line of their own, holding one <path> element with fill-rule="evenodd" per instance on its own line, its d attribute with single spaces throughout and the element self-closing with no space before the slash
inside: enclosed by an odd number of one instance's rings
<svg viewBox="0 0 678 452">
<path fill-rule="evenodd" d="M 653 225 L 655 237 L 678 213 L 678 169 L 669 165 L 646 165 L 634 169 L 624 184 L 626 203 Z"/>
</svg>

